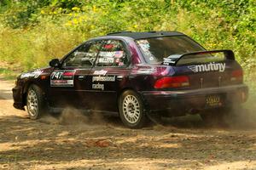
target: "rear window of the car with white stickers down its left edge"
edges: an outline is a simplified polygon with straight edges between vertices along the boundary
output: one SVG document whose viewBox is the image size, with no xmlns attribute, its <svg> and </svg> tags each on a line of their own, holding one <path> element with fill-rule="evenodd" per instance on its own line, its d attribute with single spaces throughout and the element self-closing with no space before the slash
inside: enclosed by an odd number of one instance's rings
<svg viewBox="0 0 256 170">
<path fill-rule="evenodd" d="M 166 58 L 173 61 L 181 54 L 205 50 L 189 37 L 151 37 L 136 41 L 147 63 L 157 65 Z"/>
</svg>

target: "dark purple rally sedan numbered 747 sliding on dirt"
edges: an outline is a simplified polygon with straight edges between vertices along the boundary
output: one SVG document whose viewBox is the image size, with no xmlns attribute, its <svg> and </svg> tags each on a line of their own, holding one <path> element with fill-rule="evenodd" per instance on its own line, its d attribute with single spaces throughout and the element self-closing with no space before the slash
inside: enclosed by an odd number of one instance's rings
<svg viewBox="0 0 256 170">
<path fill-rule="evenodd" d="M 117 114 L 131 128 L 149 115 L 222 117 L 247 94 L 231 50 L 207 51 L 177 31 L 92 38 L 49 67 L 22 73 L 13 88 L 15 108 L 26 106 L 31 119 L 73 107 Z"/>
</svg>

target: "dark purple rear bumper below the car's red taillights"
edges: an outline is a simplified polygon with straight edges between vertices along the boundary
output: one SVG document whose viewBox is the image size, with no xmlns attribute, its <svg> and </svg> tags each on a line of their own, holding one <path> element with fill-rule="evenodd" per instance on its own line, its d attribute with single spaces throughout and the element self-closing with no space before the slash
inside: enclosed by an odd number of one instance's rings
<svg viewBox="0 0 256 170">
<path fill-rule="evenodd" d="M 220 88 L 201 88 L 183 91 L 144 91 L 141 92 L 149 111 L 171 111 L 182 114 L 189 110 L 206 110 L 209 95 L 220 95 L 221 105 L 215 107 L 241 104 L 247 101 L 247 85 L 232 85 Z"/>
</svg>

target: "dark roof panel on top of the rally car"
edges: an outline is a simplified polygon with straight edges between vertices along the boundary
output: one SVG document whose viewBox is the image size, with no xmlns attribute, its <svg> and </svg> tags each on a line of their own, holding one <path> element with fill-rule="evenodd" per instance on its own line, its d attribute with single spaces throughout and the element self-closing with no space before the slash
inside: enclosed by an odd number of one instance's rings
<svg viewBox="0 0 256 170">
<path fill-rule="evenodd" d="M 150 37 L 167 37 L 167 36 L 184 36 L 183 33 L 178 31 L 144 31 L 144 32 L 132 32 L 132 31 L 120 31 L 108 33 L 106 37 L 131 37 L 133 39 L 143 39 Z"/>
</svg>

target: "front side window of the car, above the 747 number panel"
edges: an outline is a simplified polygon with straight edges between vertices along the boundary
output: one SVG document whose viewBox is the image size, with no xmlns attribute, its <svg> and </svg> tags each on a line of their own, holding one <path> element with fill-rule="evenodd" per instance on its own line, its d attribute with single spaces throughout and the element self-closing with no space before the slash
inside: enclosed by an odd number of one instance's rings
<svg viewBox="0 0 256 170">
<path fill-rule="evenodd" d="M 81 45 L 64 60 L 63 66 L 91 67 L 102 46 L 102 42 L 89 42 Z"/>
</svg>

